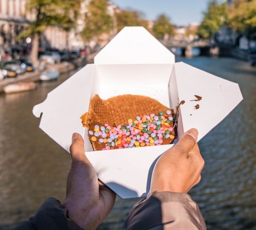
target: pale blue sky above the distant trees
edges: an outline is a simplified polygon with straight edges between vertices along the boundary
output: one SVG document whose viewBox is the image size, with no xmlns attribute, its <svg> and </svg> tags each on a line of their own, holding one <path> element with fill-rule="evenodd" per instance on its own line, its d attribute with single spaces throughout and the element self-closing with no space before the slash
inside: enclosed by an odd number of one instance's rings
<svg viewBox="0 0 256 230">
<path fill-rule="evenodd" d="M 223 2 L 224 0 L 219 0 Z M 207 9 L 208 0 L 112 0 L 121 9 L 142 11 L 146 19 L 155 20 L 164 13 L 171 17 L 171 23 L 187 26 L 189 23 L 200 23 L 203 11 Z"/>
</svg>

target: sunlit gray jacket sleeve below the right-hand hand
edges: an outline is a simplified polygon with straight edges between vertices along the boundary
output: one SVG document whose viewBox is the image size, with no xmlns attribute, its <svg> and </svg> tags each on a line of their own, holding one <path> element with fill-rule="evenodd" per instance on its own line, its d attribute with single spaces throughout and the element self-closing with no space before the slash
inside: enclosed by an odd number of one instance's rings
<svg viewBox="0 0 256 230">
<path fill-rule="evenodd" d="M 154 192 L 133 206 L 127 230 L 206 230 L 203 216 L 187 193 Z"/>
</svg>

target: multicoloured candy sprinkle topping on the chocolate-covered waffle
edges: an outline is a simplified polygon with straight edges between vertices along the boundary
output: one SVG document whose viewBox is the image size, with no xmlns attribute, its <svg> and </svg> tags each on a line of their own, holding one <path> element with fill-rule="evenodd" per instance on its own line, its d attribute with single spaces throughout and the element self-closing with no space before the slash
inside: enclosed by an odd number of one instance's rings
<svg viewBox="0 0 256 230">
<path fill-rule="evenodd" d="M 165 143 L 175 139 L 172 121 L 171 110 L 160 111 L 158 115 L 139 115 L 136 120 L 128 119 L 127 125 L 95 125 L 88 134 L 91 141 L 101 144 L 102 150 L 158 146 L 168 138 Z"/>
</svg>

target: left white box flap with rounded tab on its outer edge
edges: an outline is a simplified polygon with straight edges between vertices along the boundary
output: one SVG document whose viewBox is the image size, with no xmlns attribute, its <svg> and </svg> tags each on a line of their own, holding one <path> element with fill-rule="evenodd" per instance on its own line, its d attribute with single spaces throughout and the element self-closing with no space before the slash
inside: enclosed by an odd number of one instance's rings
<svg viewBox="0 0 256 230">
<path fill-rule="evenodd" d="M 39 127 L 68 152 L 72 134 L 85 133 L 80 116 L 89 108 L 93 72 L 94 64 L 86 65 L 33 108 L 35 116 L 43 113 Z"/>
</svg>

